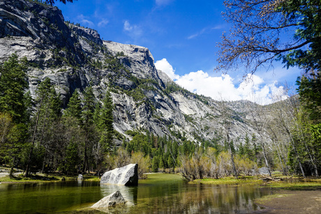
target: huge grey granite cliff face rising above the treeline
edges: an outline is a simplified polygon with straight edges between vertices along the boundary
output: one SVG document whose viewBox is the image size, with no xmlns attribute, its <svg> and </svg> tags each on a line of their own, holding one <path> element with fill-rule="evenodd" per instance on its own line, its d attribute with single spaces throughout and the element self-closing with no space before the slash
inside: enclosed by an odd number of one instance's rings
<svg viewBox="0 0 321 214">
<path fill-rule="evenodd" d="M 90 85 L 97 99 L 110 89 L 114 128 L 121 134 L 148 130 L 195 142 L 223 135 L 221 102 L 174 84 L 156 70 L 146 47 L 103 41 L 97 31 L 65 22 L 58 8 L 25 0 L 1 1 L 0 62 L 13 53 L 31 62 L 33 96 L 45 77 L 61 93 L 65 106 L 76 89 L 81 93 Z M 225 103 L 234 138 L 255 132 L 242 103 Z"/>
</svg>

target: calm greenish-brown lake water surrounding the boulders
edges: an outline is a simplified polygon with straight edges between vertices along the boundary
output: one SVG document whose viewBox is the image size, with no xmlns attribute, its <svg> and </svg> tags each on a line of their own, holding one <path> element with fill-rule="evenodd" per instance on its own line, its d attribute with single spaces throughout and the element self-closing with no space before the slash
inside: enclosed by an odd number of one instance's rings
<svg viewBox="0 0 321 214">
<path fill-rule="evenodd" d="M 251 213 L 253 200 L 271 194 L 256 185 L 192 185 L 181 176 L 149 174 L 138 187 L 100 185 L 90 181 L 0 184 L 0 213 L 101 213 L 90 208 L 119 190 L 134 206 L 109 213 Z"/>
</svg>

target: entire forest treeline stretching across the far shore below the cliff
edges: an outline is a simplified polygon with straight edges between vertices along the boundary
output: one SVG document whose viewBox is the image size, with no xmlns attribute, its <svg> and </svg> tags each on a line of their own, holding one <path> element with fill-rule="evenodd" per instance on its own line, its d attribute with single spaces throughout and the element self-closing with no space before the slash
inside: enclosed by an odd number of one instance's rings
<svg viewBox="0 0 321 214">
<path fill-rule="evenodd" d="M 31 98 L 27 69 L 27 59 L 15 54 L 0 67 L 0 164 L 20 167 L 25 176 L 38 171 L 99 175 L 130 162 L 139 164 L 140 178 L 147 171 L 179 171 L 188 180 L 237 177 L 259 167 L 304 177 L 320 174 L 321 99 L 320 92 L 311 91 L 320 87 L 319 75 L 298 80 L 299 100 L 253 104 L 248 116 L 256 134 L 244 139 L 231 139 L 233 115 L 221 102 L 221 132 L 196 143 L 180 132 L 171 139 L 146 130 L 127 131 L 132 138 L 127 139 L 114 131 L 110 92 L 97 100 L 91 86 L 76 89 L 66 109 L 49 78 Z M 123 141 L 119 148 L 115 138 Z"/>
</svg>

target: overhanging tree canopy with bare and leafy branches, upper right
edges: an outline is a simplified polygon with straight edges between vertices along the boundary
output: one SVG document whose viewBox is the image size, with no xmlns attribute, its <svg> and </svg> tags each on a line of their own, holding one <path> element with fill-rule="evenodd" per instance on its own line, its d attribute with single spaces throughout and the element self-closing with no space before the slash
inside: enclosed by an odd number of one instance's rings
<svg viewBox="0 0 321 214">
<path fill-rule="evenodd" d="M 224 5 L 232 28 L 218 44 L 217 70 L 242 65 L 253 73 L 275 59 L 307 72 L 320 69 L 320 1 L 226 0 Z"/>
</svg>

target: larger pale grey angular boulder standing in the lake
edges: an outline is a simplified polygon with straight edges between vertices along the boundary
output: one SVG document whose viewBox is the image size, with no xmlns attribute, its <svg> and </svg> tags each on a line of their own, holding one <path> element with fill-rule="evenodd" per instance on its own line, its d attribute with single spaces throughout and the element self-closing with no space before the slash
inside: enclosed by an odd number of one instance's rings
<svg viewBox="0 0 321 214">
<path fill-rule="evenodd" d="M 130 164 L 106 171 L 100 178 L 100 184 L 138 185 L 138 165 Z"/>
</svg>

